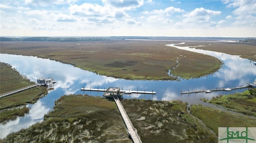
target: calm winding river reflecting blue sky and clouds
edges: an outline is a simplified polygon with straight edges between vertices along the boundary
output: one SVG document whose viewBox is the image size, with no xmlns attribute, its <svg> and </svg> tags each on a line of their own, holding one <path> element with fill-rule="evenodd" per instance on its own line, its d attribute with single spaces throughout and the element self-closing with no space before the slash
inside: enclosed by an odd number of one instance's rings
<svg viewBox="0 0 256 143">
<path fill-rule="evenodd" d="M 224 66 L 214 74 L 194 78 L 190 80 L 181 79 L 180 81 L 153 81 L 153 80 L 124 80 L 112 77 L 100 76 L 98 74 L 84 71 L 73 67 L 72 65 L 62 64 L 49 59 L 40 59 L 37 57 L 0 54 L 0 61 L 12 65 L 20 74 L 26 76 L 31 81 L 36 82 L 39 77 L 52 77 L 56 80 L 55 90 L 48 93 L 30 106 L 30 112 L 24 117 L 19 117 L 14 121 L 9 121 L 5 125 L 0 125 L 0 138 L 6 137 L 9 133 L 19 131 L 22 128 L 28 128 L 30 125 L 42 121 L 44 114 L 53 110 L 54 101 L 64 94 L 89 94 L 93 96 L 102 96 L 102 92 L 81 91 L 86 88 L 108 88 L 109 86 L 120 87 L 124 90 L 146 90 L 156 92 L 151 94 L 131 94 L 124 95 L 124 98 L 145 98 L 150 100 L 182 100 L 189 104 L 205 104 L 200 98 L 212 98 L 219 94 L 229 94 L 242 92 L 246 89 L 232 92 L 212 92 L 210 94 L 183 94 L 181 91 L 207 90 L 214 88 L 228 88 L 235 86 L 244 86 L 251 83 L 256 78 L 256 66 L 249 60 L 242 59 L 239 56 L 228 55 L 213 51 L 205 51 L 188 47 L 178 47 L 177 45 L 166 45 L 204 53 L 217 57 L 224 62 Z M 171 52 L 171 51 L 166 51 Z"/>
</svg>

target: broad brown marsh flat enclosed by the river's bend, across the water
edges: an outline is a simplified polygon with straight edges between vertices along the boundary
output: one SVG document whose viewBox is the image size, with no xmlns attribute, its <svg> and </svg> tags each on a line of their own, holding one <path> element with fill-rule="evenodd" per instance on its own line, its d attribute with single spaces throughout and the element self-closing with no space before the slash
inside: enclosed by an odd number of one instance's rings
<svg viewBox="0 0 256 143">
<path fill-rule="evenodd" d="M 167 72 L 176 67 L 177 57 L 180 65 L 172 74 L 183 78 L 213 73 L 222 64 L 215 57 L 165 46 L 170 44 L 170 41 L 155 43 L 111 40 L 79 43 L 2 41 L 1 53 L 50 58 L 97 74 L 132 80 L 176 80 L 176 77 L 168 76 Z M 119 63 L 114 63 L 116 61 Z M 129 61 L 136 63 L 127 63 Z"/>
</svg>

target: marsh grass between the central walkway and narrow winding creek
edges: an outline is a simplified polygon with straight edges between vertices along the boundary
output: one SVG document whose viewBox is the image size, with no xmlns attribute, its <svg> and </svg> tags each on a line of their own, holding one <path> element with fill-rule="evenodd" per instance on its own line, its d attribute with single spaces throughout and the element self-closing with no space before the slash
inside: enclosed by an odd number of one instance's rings
<svg viewBox="0 0 256 143">
<path fill-rule="evenodd" d="M 186 112 L 181 101 L 121 101 L 145 143 L 216 142 L 216 136 Z"/>
</svg>

